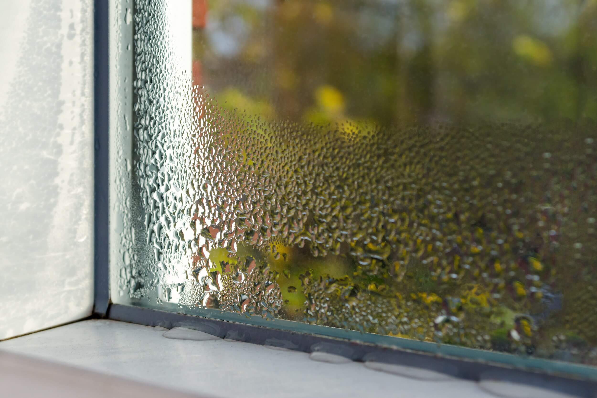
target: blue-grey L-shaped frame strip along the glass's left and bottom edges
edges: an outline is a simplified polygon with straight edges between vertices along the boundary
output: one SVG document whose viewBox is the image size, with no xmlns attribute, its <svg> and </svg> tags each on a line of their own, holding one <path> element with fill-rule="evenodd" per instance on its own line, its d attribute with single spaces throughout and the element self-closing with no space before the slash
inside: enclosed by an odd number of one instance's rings
<svg viewBox="0 0 597 398">
<path fill-rule="evenodd" d="M 263 320 L 239 314 L 230 316 L 217 310 L 205 310 L 199 316 L 113 304 L 110 300 L 110 218 L 118 214 L 113 203 L 110 203 L 110 199 L 115 198 L 112 184 L 117 181 L 116 159 L 113 155 L 118 144 L 116 132 L 125 128 L 127 118 L 131 125 L 134 120 L 134 48 L 131 51 L 116 51 L 116 44 L 118 41 L 133 43 L 134 21 L 129 20 L 127 23 L 124 10 L 134 10 L 134 1 L 94 2 L 94 317 L 147 326 L 186 326 L 219 337 L 238 338 L 247 343 L 279 345 L 304 352 L 324 350 L 341 353 L 361 362 L 376 360 L 436 371 L 456 369 L 456 377 L 465 380 L 479 381 L 488 372 L 498 372 L 503 380 L 520 382 L 523 377 L 525 384 L 549 385 L 553 390 L 576 396 L 593 396 L 597 391 L 597 368 L 585 365 L 361 334 L 358 331 L 287 320 Z M 128 100 L 123 103 L 121 99 L 127 95 Z M 128 135 L 130 137 L 127 139 L 132 143 L 133 134 Z"/>
</svg>

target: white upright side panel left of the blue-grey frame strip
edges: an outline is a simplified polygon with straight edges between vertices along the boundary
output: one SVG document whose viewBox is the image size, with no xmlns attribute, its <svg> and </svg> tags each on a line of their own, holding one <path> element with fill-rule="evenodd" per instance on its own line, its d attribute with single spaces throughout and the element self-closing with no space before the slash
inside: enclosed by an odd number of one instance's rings
<svg viewBox="0 0 597 398">
<path fill-rule="evenodd" d="M 93 5 L 0 1 L 0 341 L 93 313 Z"/>
</svg>

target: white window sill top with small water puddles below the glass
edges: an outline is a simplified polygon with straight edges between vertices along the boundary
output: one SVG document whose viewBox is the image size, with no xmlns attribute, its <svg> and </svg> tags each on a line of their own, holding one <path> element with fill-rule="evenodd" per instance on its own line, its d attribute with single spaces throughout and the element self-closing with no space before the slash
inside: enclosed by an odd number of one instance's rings
<svg viewBox="0 0 597 398">
<path fill-rule="evenodd" d="M 116 384 L 124 378 L 204 397 L 495 397 L 472 381 L 415 380 L 358 362 L 324 363 L 296 351 L 221 339 L 172 340 L 162 334 L 164 330 L 149 326 L 85 320 L 0 342 L 0 368 L 13 360 L 10 354 L 21 354 L 97 372 L 99 379 L 117 377 Z M 36 382 L 33 374 L 29 379 Z M 0 380 L 0 389 L 10 391 L 10 383 L 17 380 L 23 385 L 22 374 L 20 379 Z M 505 393 L 514 386 L 503 387 Z M 130 397 L 125 390 L 122 396 Z M 113 391 L 109 395 L 121 396 Z"/>
</svg>

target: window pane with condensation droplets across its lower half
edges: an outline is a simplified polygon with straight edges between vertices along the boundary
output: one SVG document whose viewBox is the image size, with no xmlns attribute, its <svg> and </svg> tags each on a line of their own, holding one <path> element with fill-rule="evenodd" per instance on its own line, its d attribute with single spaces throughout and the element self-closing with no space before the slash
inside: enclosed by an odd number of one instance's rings
<svg viewBox="0 0 597 398">
<path fill-rule="evenodd" d="M 139 3 L 113 300 L 597 362 L 595 1 Z"/>
</svg>

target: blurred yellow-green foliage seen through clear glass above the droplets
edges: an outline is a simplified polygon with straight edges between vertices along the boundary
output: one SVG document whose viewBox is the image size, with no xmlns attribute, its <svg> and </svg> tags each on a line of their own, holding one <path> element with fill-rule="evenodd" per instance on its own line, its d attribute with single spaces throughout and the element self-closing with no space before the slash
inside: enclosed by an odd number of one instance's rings
<svg viewBox="0 0 597 398">
<path fill-rule="evenodd" d="M 293 121 L 597 115 L 595 0 L 218 0 L 198 83 Z"/>
</svg>

